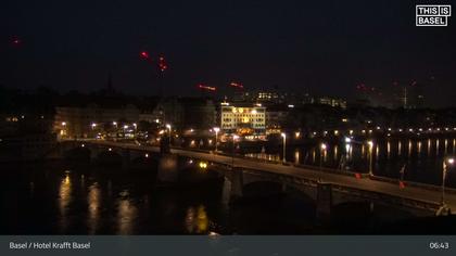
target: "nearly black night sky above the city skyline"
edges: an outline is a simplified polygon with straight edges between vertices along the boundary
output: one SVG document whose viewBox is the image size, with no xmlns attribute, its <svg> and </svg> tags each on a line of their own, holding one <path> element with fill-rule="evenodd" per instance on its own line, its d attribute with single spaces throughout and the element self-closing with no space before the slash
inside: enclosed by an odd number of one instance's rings
<svg viewBox="0 0 456 256">
<path fill-rule="evenodd" d="M 452 1 L 7 0 L 0 84 L 91 91 L 111 73 L 116 89 L 153 94 L 152 66 L 139 59 L 147 50 L 169 63 L 168 94 L 238 80 L 354 98 L 359 82 L 417 80 L 428 102 L 448 105 L 456 97 L 456 16 L 448 27 L 416 27 L 415 4 L 432 2 Z"/>
</svg>

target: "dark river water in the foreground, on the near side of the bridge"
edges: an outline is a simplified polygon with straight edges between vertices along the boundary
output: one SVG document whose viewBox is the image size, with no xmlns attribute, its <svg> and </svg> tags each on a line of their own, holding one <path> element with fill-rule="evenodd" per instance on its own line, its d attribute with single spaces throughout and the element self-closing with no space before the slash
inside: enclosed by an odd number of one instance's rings
<svg viewBox="0 0 456 256">
<path fill-rule="evenodd" d="M 370 233 L 411 214 L 371 203 L 335 206 L 319 220 L 300 193 L 229 204 L 224 183 L 160 185 L 153 167 L 3 165 L 2 234 Z"/>
</svg>

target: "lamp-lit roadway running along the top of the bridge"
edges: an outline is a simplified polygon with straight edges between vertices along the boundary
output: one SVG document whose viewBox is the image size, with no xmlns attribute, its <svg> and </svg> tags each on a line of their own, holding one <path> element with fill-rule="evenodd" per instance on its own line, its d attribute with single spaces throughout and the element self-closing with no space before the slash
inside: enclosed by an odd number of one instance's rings
<svg viewBox="0 0 456 256">
<path fill-rule="evenodd" d="M 107 146 L 117 146 L 130 150 L 139 151 L 151 151 L 159 152 L 157 146 L 150 145 L 137 145 L 137 144 L 126 144 L 119 142 L 110 142 L 110 141 L 91 141 L 91 143 L 103 144 Z M 346 188 L 354 188 L 381 194 L 388 194 L 402 199 L 409 199 L 420 202 L 426 202 L 430 204 L 439 204 L 441 202 L 442 192 L 441 190 L 431 190 L 420 187 L 406 187 L 400 188 L 398 184 L 385 182 L 381 180 L 375 180 L 369 178 L 356 179 L 354 176 L 339 175 L 334 172 L 318 171 L 315 169 L 296 167 L 292 165 L 282 165 L 275 163 L 264 163 L 255 159 L 241 158 L 241 157 L 231 157 L 223 154 L 212 154 L 206 152 L 198 152 L 183 149 L 172 149 L 173 154 L 181 155 L 185 157 L 199 158 L 202 161 L 208 161 L 225 165 L 235 164 L 236 167 L 255 169 L 267 171 L 277 175 L 291 176 L 295 178 L 302 178 L 307 180 L 321 180 L 324 182 L 329 182 Z M 456 209 L 456 194 L 446 193 L 445 202 L 449 208 Z"/>
</svg>

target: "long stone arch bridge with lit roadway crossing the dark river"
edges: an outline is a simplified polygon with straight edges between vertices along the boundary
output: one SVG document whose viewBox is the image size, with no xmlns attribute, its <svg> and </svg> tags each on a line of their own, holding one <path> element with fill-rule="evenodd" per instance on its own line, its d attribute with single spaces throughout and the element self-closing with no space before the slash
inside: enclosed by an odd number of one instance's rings
<svg viewBox="0 0 456 256">
<path fill-rule="evenodd" d="M 159 154 L 161 149 L 151 145 L 138 145 L 112 141 L 64 141 L 66 146 L 86 146 L 98 151 L 118 151 L 124 162 L 131 155 Z M 408 209 L 418 210 L 419 215 L 439 213 L 442 207 L 441 187 L 409 183 L 405 188 L 397 180 L 371 176 L 347 175 L 343 171 L 324 171 L 291 164 L 264 162 L 254 158 L 232 156 L 224 153 L 170 149 L 164 156 L 181 156 L 218 165 L 217 171 L 225 177 L 230 197 L 242 197 L 246 185 L 255 182 L 280 184 L 282 191 L 299 190 L 316 202 L 317 210 L 330 214 L 331 206 L 344 202 L 380 202 Z M 169 157 L 162 157 L 168 161 Z M 445 191 L 446 209 L 456 209 L 456 190 Z M 417 212 L 415 212 L 417 213 Z M 447 213 L 447 212 L 446 212 Z"/>
</svg>

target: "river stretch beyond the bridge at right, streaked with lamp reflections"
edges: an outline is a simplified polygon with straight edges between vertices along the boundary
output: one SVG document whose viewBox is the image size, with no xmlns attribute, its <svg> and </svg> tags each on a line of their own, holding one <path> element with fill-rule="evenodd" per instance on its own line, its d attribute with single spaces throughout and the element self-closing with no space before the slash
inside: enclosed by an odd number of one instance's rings
<svg viewBox="0 0 456 256">
<path fill-rule="evenodd" d="M 320 146 L 287 148 L 287 161 L 301 164 L 324 166 L 330 168 L 368 172 L 370 149 L 367 141 L 326 143 Z M 373 141 L 372 170 L 375 175 L 398 178 L 400 170 L 405 166 L 405 179 L 409 181 L 441 184 L 442 162 L 444 157 L 456 153 L 456 139 L 387 139 Z M 300 157 L 305 155 L 305 157 Z M 307 156 L 311 157 L 307 157 Z M 266 149 L 263 153 L 248 153 L 248 157 L 267 161 L 281 161 L 281 150 Z M 455 171 L 449 171 L 447 184 L 456 187 Z"/>
</svg>

